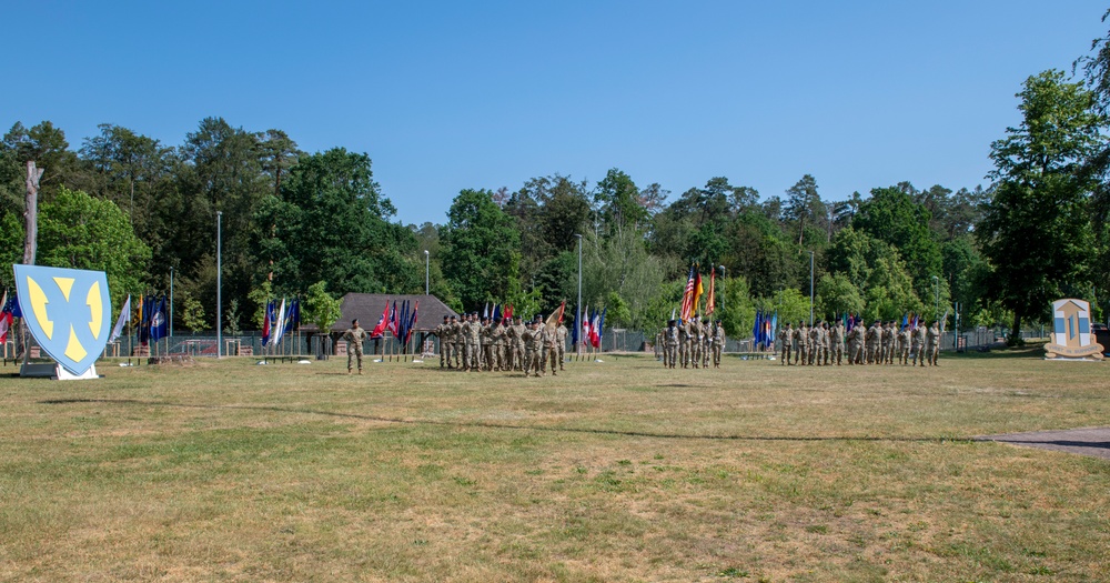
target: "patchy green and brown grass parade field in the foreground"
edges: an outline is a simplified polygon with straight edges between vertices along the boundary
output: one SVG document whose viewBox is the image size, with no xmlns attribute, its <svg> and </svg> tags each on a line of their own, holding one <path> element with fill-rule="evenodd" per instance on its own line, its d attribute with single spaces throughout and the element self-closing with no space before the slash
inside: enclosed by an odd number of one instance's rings
<svg viewBox="0 0 1110 583">
<path fill-rule="evenodd" d="M 1107 581 L 1110 461 L 972 440 L 1110 424 L 1042 354 L 6 375 L 0 580 Z"/>
</svg>

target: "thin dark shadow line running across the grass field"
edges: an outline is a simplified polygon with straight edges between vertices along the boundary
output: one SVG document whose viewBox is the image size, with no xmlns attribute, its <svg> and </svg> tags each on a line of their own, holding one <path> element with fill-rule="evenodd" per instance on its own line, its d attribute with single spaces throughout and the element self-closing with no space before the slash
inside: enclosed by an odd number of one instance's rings
<svg viewBox="0 0 1110 583">
<path fill-rule="evenodd" d="M 283 406 L 265 405 L 198 405 L 186 403 L 173 403 L 169 401 L 140 401 L 137 399 L 49 399 L 39 401 L 43 405 L 68 405 L 68 404 L 110 404 L 110 405 L 140 405 L 140 406 L 172 406 L 181 409 L 208 409 L 228 411 L 265 411 L 270 413 L 292 413 L 306 415 L 323 415 L 340 419 L 357 419 L 360 421 L 379 421 L 382 423 L 397 423 L 407 425 L 440 425 L 451 428 L 476 428 L 476 429 L 502 429 L 518 431 L 537 431 L 551 433 L 591 433 L 597 435 L 622 435 L 628 438 L 655 438 L 669 440 L 709 440 L 709 441 L 841 441 L 841 442 L 914 442 L 914 443 L 965 443 L 975 444 L 972 438 L 966 436 L 891 436 L 880 438 L 872 435 L 697 435 L 683 433 L 658 433 L 650 431 L 620 431 L 610 429 L 593 428 L 553 428 L 541 425 L 513 425 L 508 423 L 482 423 L 465 421 L 432 421 L 421 419 L 398 419 L 384 418 L 379 415 L 363 415 L 359 413 L 337 413 L 334 411 L 319 411 L 313 409 L 291 409 Z"/>
</svg>

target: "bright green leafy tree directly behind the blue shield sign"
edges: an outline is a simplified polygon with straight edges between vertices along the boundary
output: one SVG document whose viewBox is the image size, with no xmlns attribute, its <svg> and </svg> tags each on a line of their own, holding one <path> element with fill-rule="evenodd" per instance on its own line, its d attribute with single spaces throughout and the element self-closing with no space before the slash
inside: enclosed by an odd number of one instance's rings
<svg viewBox="0 0 1110 583">
<path fill-rule="evenodd" d="M 150 248 L 131 230 L 127 215 L 105 200 L 81 191 L 59 189 L 39 214 L 36 261 L 54 268 L 103 271 L 112 304 L 142 291 Z"/>
</svg>

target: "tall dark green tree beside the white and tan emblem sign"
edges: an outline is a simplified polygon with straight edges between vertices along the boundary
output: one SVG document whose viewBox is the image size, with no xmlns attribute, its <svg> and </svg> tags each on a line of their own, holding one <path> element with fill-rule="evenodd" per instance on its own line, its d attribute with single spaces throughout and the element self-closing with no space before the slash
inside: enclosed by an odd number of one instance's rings
<svg viewBox="0 0 1110 583">
<path fill-rule="evenodd" d="M 991 144 L 993 195 L 976 227 L 989 294 L 1013 311 L 1011 341 L 1052 300 L 1090 289 L 1092 184 L 1077 170 L 1106 144 L 1094 96 L 1062 72 L 1030 77 L 1018 97 L 1022 121 Z"/>
</svg>

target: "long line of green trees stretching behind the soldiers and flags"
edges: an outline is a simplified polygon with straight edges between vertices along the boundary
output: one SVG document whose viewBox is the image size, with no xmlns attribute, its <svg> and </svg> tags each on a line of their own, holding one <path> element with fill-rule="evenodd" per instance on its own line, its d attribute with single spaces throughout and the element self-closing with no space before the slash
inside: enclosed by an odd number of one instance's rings
<svg viewBox="0 0 1110 583">
<path fill-rule="evenodd" d="M 281 130 L 206 118 L 168 145 L 102 124 L 74 148 L 49 121 L 17 122 L 0 142 L 0 260 L 21 260 L 23 167 L 34 160 L 46 169 L 38 262 L 108 271 L 115 305 L 127 293 L 167 290 L 172 268 L 190 328 L 216 325 L 216 211 L 219 325 L 232 332 L 259 326 L 268 298 L 313 285 L 421 293 L 424 250 L 431 291 L 448 305 L 498 302 L 518 313 L 573 306 L 581 250 L 583 303 L 606 308 L 615 328 L 664 324 L 692 265 L 714 273 L 715 318 L 730 334 L 750 330 L 757 310 L 808 319 L 810 293 L 825 319 L 935 318 L 958 305 L 965 326 L 1017 330 L 1047 321 L 1050 301 L 1064 295 L 1091 301 L 1101 318 L 1110 300 L 1108 39 L 1093 41 L 1071 77 L 1026 80 L 1021 123 L 985 144 L 995 163 L 986 188 L 900 182 L 827 195 L 806 174 L 764 195 L 713 177 L 672 195 L 612 169 L 596 183 L 556 173 L 464 189 L 443 223 L 404 225 L 366 153 L 307 153 Z"/>
</svg>

